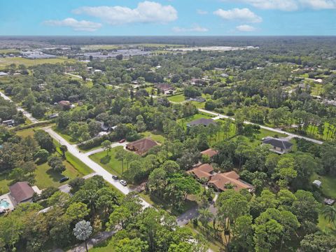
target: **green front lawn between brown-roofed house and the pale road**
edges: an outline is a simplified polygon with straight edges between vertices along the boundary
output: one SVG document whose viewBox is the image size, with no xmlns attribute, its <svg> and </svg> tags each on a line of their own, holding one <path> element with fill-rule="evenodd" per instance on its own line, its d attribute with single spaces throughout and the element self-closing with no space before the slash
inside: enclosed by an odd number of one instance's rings
<svg viewBox="0 0 336 252">
<path fill-rule="evenodd" d="M 121 165 L 121 162 L 116 160 L 116 153 L 120 148 L 123 148 L 123 146 L 112 148 L 111 151 L 109 152 L 109 156 L 106 155 L 106 151 L 102 151 L 100 153 L 90 155 L 90 158 L 94 162 L 97 162 L 97 164 L 102 165 L 102 167 L 106 169 L 108 172 L 111 172 L 111 174 L 116 174 L 121 177 L 123 167 Z M 126 171 L 126 169 L 127 165 L 124 164 L 124 172 Z"/>
</svg>

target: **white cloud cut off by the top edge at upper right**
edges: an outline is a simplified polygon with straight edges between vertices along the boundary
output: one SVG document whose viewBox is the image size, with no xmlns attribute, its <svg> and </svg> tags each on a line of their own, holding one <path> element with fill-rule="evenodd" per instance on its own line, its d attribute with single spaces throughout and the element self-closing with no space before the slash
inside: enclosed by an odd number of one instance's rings
<svg viewBox="0 0 336 252">
<path fill-rule="evenodd" d="M 265 10 L 293 11 L 300 8 L 311 8 L 314 10 L 335 9 L 336 0 L 223 0 L 243 2 L 251 4 L 255 8 Z"/>
</svg>

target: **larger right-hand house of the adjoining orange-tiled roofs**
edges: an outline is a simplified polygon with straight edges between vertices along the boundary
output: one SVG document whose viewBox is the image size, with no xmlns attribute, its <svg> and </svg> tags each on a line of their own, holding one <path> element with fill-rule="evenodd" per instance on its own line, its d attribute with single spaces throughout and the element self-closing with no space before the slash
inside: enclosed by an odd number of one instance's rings
<svg viewBox="0 0 336 252">
<path fill-rule="evenodd" d="M 213 186 L 218 191 L 224 191 L 228 188 L 233 188 L 237 191 L 247 189 L 249 192 L 253 191 L 253 186 L 245 181 L 242 181 L 237 172 L 218 173 L 211 177 L 209 186 Z"/>
</svg>

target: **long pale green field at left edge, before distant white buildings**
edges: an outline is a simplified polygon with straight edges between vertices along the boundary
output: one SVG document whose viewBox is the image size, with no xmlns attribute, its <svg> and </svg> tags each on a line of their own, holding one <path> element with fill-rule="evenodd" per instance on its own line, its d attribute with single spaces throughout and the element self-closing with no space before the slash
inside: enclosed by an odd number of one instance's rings
<svg viewBox="0 0 336 252">
<path fill-rule="evenodd" d="M 54 58 L 54 59 L 25 59 L 22 57 L 6 57 L 0 59 L 0 69 L 6 69 L 10 64 L 24 64 L 25 66 L 36 66 L 38 64 L 56 64 L 64 62 L 76 62 L 75 59 Z"/>
</svg>

